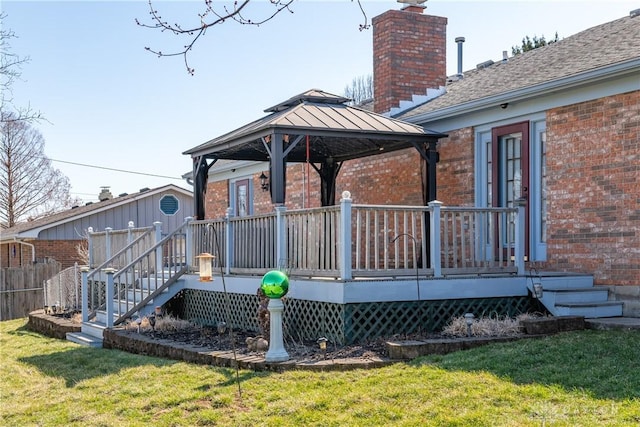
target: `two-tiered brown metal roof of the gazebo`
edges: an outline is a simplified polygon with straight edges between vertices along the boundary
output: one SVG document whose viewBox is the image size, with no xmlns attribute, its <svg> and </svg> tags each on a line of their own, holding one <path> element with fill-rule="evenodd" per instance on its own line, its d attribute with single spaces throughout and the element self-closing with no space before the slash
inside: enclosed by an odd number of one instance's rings
<svg viewBox="0 0 640 427">
<path fill-rule="evenodd" d="M 287 162 L 336 162 L 413 147 L 445 135 L 346 105 L 348 98 L 311 89 L 265 110 L 269 115 L 184 152 L 192 157 L 268 161 L 274 133 L 283 135 Z M 309 157 L 306 142 L 309 136 Z M 297 138 L 296 138 L 297 137 Z"/>
</svg>

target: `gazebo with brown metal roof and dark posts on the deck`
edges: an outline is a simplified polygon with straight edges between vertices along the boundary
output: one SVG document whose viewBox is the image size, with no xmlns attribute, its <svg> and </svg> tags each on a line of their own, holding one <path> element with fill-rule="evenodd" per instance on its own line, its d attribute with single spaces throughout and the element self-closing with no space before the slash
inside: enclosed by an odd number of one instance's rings
<svg viewBox="0 0 640 427">
<path fill-rule="evenodd" d="M 349 99 L 311 89 L 273 107 L 267 116 L 198 145 L 193 159 L 194 203 L 204 219 L 209 169 L 220 159 L 269 162 L 271 201 L 286 198 L 287 163 L 308 162 L 320 176 L 321 205 L 335 204 L 335 183 L 344 161 L 414 147 L 425 163 L 423 200 L 436 199 L 436 144 L 446 135 L 348 105 Z"/>
</svg>

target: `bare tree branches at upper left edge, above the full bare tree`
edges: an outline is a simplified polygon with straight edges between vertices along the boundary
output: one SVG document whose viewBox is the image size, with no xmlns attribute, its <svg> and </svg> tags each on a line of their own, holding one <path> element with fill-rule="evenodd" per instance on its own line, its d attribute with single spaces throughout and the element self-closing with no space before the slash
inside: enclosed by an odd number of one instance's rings
<svg viewBox="0 0 640 427">
<path fill-rule="evenodd" d="M 4 13 L 0 13 L 0 122 L 37 121 L 42 119 L 39 111 L 34 111 L 30 105 L 17 107 L 13 103 L 13 83 L 22 75 L 22 66 L 29 62 L 29 58 L 11 52 L 10 40 L 16 35 L 4 27 L 5 17 Z"/>
</svg>

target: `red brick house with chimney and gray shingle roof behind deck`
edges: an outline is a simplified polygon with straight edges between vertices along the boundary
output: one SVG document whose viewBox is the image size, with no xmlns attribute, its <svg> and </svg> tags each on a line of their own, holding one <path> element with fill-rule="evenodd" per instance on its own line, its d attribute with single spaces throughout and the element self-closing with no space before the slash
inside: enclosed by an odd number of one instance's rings
<svg viewBox="0 0 640 427">
<path fill-rule="evenodd" d="M 640 12 L 450 78 L 447 19 L 422 12 L 408 6 L 373 19 L 374 110 L 448 135 L 438 143 L 437 199 L 524 198 L 529 268 L 589 273 L 639 294 Z M 346 161 L 336 194 L 422 205 L 422 164 L 414 149 Z M 272 211 L 260 181 L 267 168 L 212 167 L 206 217 L 228 206 L 234 215 Z M 319 206 L 319 188 L 308 165 L 288 166 L 287 208 Z"/>
</svg>

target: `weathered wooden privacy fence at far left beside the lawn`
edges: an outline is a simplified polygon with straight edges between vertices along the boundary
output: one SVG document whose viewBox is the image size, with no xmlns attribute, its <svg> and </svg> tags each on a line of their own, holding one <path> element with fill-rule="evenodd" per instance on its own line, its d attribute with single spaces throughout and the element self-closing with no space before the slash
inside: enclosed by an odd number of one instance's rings
<svg viewBox="0 0 640 427">
<path fill-rule="evenodd" d="M 26 317 L 42 308 L 43 284 L 60 269 L 57 261 L 0 269 L 0 320 Z"/>
</svg>

